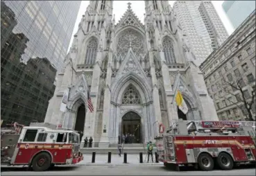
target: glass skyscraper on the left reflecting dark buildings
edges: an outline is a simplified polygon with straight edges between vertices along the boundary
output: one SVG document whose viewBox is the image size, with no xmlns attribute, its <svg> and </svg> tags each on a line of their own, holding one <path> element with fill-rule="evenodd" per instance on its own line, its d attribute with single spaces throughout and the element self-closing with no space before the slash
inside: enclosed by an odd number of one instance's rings
<svg viewBox="0 0 256 176">
<path fill-rule="evenodd" d="M 1 1 L 1 120 L 44 121 L 81 1 Z"/>
</svg>

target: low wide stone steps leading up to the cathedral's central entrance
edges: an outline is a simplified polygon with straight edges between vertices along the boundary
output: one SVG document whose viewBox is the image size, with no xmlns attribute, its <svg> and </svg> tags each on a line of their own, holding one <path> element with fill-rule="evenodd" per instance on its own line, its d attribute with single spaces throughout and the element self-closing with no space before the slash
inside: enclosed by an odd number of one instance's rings
<svg viewBox="0 0 256 176">
<path fill-rule="evenodd" d="M 119 153 L 119 150 L 117 148 L 80 148 L 80 152 L 82 152 L 83 154 L 87 154 L 87 155 L 91 155 L 92 152 L 96 152 L 97 154 L 100 155 L 108 155 L 108 152 L 111 152 L 112 154 L 117 154 Z M 140 152 L 142 153 L 147 153 L 147 149 L 146 148 L 127 148 L 127 147 L 123 147 L 123 153 L 126 152 L 127 154 L 137 154 L 139 155 Z M 156 152 L 156 148 L 153 149 L 153 152 Z"/>
</svg>

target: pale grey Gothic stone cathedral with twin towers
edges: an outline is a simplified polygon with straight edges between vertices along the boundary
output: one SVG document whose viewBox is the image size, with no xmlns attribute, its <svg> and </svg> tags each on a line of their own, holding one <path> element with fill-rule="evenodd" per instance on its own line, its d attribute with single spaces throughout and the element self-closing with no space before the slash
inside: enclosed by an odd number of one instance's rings
<svg viewBox="0 0 256 176">
<path fill-rule="evenodd" d="M 130 3 L 120 21 L 113 1 L 90 1 L 58 74 L 45 122 L 83 131 L 94 146 L 117 143 L 119 134 L 135 134 L 137 143 L 153 140 L 157 121 L 166 127 L 178 118 L 217 120 L 203 73 L 182 39 L 168 1 L 145 1 L 142 24 Z M 69 89 L 67 110 L 60 111 Z M 87 90 L 94 112 L 87 109 Z M 180 89 L 189 108 L 178 110 Z M 83 137 L 83 139 L 84 139 Z M 82 139 L 82 141 L 83 141 Z"/>
</svg>

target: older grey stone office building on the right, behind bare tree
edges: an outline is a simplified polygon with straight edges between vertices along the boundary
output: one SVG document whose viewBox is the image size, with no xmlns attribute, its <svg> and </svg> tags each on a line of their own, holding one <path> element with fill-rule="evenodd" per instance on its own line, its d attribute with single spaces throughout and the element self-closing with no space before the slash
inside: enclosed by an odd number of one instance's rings
<svg viewBox="0 0 256 176">
<path fill-rule="evenodd" d="M 200 70 L 220 120 L 252 120 L 246 106 L 255 119 L 255 11 L 200 65 Z"/>
</svg>

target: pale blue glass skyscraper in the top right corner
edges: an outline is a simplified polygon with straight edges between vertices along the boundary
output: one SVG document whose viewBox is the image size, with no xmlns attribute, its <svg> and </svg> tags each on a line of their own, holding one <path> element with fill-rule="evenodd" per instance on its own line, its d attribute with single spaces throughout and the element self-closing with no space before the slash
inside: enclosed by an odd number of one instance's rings
<svg viewBox="0 0 256 176">
<path fill-rule="evenodd" d="M 255 10 L 255 1 L 224 1 L 222 8 L 235 30 Z"/>
</svg>

